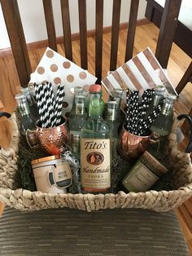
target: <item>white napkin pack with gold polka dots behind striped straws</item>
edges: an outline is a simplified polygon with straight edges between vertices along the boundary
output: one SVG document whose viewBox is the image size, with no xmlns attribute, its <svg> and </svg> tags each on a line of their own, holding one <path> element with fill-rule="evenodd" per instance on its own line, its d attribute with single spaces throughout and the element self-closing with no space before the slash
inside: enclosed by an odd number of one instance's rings
<svg viewBox="0 0 192 256">
<path fill-rule="evenodd" d="M 55 95 L 58 85 L 63 83 L 65 87 L 62 114 L 63 117 L 68 117 L 72 108 L 74 86 L 84 86 L 84 90 L 89 91 L 89 84 L 93 84 L 96 77 L 48 47 L 31 80 L 31 82 L 39 83 L 48 80 L 52 83 Z"/>
</svg>

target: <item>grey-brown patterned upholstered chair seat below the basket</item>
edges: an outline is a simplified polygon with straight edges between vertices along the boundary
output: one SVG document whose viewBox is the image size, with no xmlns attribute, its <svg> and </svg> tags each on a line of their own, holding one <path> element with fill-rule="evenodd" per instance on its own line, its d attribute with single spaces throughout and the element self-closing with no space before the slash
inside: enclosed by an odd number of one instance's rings
<svg viewBox="0 0 192 256">
<path fill-rule="evenodd" d="M 173 211 L 72 209 L 20 212 L 0 218 L 0 255 L 189 255 Z"/>
</svg>

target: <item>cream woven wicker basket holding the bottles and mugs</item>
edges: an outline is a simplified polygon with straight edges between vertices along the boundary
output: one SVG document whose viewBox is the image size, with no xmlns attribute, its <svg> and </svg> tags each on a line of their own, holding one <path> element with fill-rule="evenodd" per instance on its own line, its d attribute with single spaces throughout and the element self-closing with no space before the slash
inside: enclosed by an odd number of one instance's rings
<svg viewBox="0 0 192 256">
<path fill-rule="evenodd" d="M 50 194 L 30 192 L 18 188 L 14 177 L 17 172 L 16 157 L 20 133 L 15 113 L 11 117 L 14 136 L 11 147 L 0 151 L 0 201 L 19 210 L 41 210 L 46 208 L 77 208 L 79 210 L 99 210 L 113 208 L 144 208 L 168 211 L 181 205 L 192 196 L 192 166 L 189 154 L 178 151 L 176 141 L 177 121 L 174 121 L 168 138 L 165 156 L 172 169 L 171 191 L 118 192 L 117 194 Z"/>
</svg>

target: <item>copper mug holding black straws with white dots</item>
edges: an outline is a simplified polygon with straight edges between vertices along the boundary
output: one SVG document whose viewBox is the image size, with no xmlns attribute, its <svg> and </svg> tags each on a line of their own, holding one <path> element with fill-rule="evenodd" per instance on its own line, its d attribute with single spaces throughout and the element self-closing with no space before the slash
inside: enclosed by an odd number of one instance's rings
<svg viewBox="0 0 192 256">
<path fill-rule="evenodd" d="M 151 143 L 151 135 L 138 136 L 131 134 L 128 130 L 122 127 L 120 139 L 117 145 L 117 150 L 120 157 L 126 160 L 132 160 L 146 151 Z"/>
</svg>

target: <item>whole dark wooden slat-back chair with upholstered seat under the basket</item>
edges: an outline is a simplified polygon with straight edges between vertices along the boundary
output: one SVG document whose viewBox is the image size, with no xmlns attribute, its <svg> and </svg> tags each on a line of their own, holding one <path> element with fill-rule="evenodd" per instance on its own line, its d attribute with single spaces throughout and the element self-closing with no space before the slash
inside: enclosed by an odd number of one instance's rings
<svg viewBox="0 0 192 256">
<path fill-rule="evenodd" d="M 32 68 L 20 19 L 18 3 L 16 0 L 0 0 L 0 2 L 7 24 L 7 31 L 11 41 L 11 49 L 13 51 L 17 73 L 20 78 L 20 85 L 25 87 L 28 85 Z M 61 0 L 60 2 L 65 55 L 69 60 L 73 60 L 68 0 Z M 117 63 L 120 2 L 120 0 L 113 1 L 110 70 L 115 70 Z M 177 0 L 177 2 L 179 1 Z M 42 0 L 42 3 L 45 12 L 48 45 L 53 50 L 57 51 L 51 0 Z M 131 59 L 133 55 L 138 4 L 139 0 L 131 1 L 127 42 L 124 44 L 126 48 L 124 62 Z M 86 1 L 79 0 L 78 8 L 81 67 L 87 69 L 89 56 L 87 54 Z M 164 19 L 162 20 L 159 40 L 156 47 L 156 56 L 164 68 L 167 67 L 172 37 L 177 21 L 177 13 L 172 13 L 170 10 L 172 10 L 172 1 L 167 0 L 166 11 L 164 12 Z M 101 82 L 103 70 L 103 0 L 96 0 L 95 24 L 95 75 L 98 77 L 98 82 Z M 168 27 L 167 24 L 169 24 Z M 161 51 L 163 48 L 164 51 Z M 57 218 L 57 216 L 59 216 L 59 218 Z M 7 218 L 10 219 L 10 217 L 13 223 L 11 223 L 10 227 L 7 227 Z M 111 222 L 110 225 L 108 225 L 108 221 Z M 49 222 L 51 223 L 50 228 L 46 229 L 47 223 Z M 173 250 L 176 255 L 177 252 L 178 254 L 187 254 L 185 241 L 182 237 L 176 216 L 172 211 L 168 214 L 155 214 L 150 210 L 107 210 L 106 212 L 101 211 L 99 213 L 84 214 L 78 210 L 59 209 L 56 211 L 42 210 L 36 213 L 20 214 L 18 210 L 6 209 L 4 217 L 2 216 L 1 223 L 3 225 L 2 227 L 5 227 L 5 230 L 1 228 L 2 238 L 0 239 L 0 245 L 3 245 L 2 254 L 12 254 L 16 252 L 18 254 L 43 253 L 51 255 L 51 253 L 57 253 L 64 255 L 64 252 L 66 252 L 66 254 L 74 252 L 74 255 L 81 253 L 88 255 L 89 253 L 163 255 L 164 250 L 166 250 L 168 254 L 171 254 Z M 162 223 L 164 223 L 164 225 L 162 225 Z M 142 224 L 142 226 L 140 226 L 140 224 Z M 15 225 L 17 225 L 18 229 Z M 70 225 L 72 226 L 72 230 L 69 232 L 68 227 L 70 227 Z M 14 230 L 12 230 L 11 227 L 13 227 Z M 37 231 L 39 227 L 41 227 L 42 231 L 40 233 Z M 75 233 L 73 232 L 74 228 L 76 228 Z M 107 228 L 110 228 L 109 232 Z M 34 232 L 34 230 L 37 232 Z M 94 230 L 96 232 L 95 234 Z M 130 232 L 127 232 L 128 230 Z M 134 232 L 132 232 L 132 230 L 134 230 Z M 144 233 L 142 230 L 144 230 Z M 139 235 L 137 235 L 138 231 L 141 231 Z M 25 233 L 22 239 L 20 239 L 18 234 L 22 234 L 22 232 Z M 35 236 L 33 236 L 34 233 Z M 165 240 L 165 233 L 170 237 L 170 239 L 168 239 L 170 243 Z M 9 236 L 10 234 L 11 236 Z M 172 234 L 177 234 L 177 236 L 172 236 Z M 30 237 L 32 237 L 31 240 Z M 142 237 L 144 237 L 144 239 L 142 239 Z M 148 240 L 148 249 L 146 249 L 146 239 Z M 30 241 L 30 243 L 27 241 Z M 18 247 L 18 242 L 20 243 L 20 247 Z M 110 243 L 109 246 L 108 243 Z"/>
</svg>

